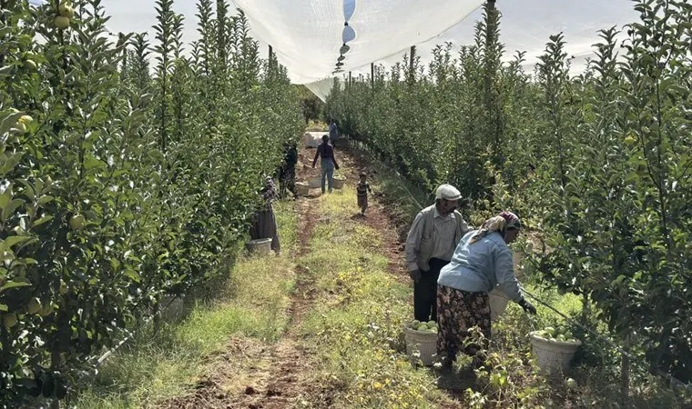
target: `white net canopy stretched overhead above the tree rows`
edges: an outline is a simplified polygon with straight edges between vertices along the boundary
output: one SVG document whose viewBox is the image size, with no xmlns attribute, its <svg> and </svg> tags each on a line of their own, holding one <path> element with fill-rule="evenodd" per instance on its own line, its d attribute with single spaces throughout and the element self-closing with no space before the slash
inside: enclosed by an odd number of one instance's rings
<svg viewBox="0 0 692 409">
<path fill-rule="evenodd" d="M 32 0 L 41 2 L 42 0 Z M 176 0 L 185 16 L 184 38 L 198 38 L 196 0 Z M 294 84 L 308 85 L 323 96 L 331 78 L 351 72 L 369 75 L 370 64 L 392 65 L 416 45 L 421 64 L 444 42 L 473 43 L 483 0 L 231 0 L 247 15 L 250 34 L 271 45 Z M 103 0 L 108 28 L 114 32 L 149 32 L 156 24 L 154 0 Z M 502 14 L 500 40 L 504 59 L 525 51 L 531 67 L 549 35 L 564 33 L 566 51 L 574 55 L 573 74 L 593 55 L 597 31 L 622 27 L 637 19 L 632 0 L 496 0 Z M 345 45 L 345 46 L 344 46 Z M 335 73 L 335 71 L 338 71 Z M 327 91 L 325 91 L 327 90 Z"/>
</svg>

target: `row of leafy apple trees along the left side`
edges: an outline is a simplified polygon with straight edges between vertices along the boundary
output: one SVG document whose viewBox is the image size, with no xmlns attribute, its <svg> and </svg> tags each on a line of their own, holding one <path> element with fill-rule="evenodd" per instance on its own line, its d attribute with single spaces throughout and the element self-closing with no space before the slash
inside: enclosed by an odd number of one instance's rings
<svg viewBox="0 0 692 409">
<path fill-rule="evenodd" d="M 222 273 L 300 135 L 227 1 L 199 0 L 191 45 L 172 0 L 156 13 L 155 38 L 112 35 L 100 0 L 0 0 L 0 402 L 64 397 L 163 295 Z"/>
</svg>

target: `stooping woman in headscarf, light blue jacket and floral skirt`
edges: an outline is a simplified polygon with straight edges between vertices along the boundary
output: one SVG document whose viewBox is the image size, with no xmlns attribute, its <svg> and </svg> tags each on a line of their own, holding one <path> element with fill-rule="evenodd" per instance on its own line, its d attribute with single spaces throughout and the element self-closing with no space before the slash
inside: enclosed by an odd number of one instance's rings
<svg viewBox="0 0 692 409">
<path fill-rule="evenodd" d="M 473 356 L 474 367 L 483 363 L 491 330 L 488 293 L 495 285 L 499 284 L 525 312 L 535 314 L 534 305 L 524 299 L 514 276 L 512 251 L 507 245 L 514 242 L 520 229 L 519 217 L 511 212 L 486 220 L 480 229 L 463 236 L 452 261 L 440 272 L 437 355 L 444 357 L 444 369 L 452 367 L 460 350 Z M 473 326 L 480 328 L 485 344 L 469 343 Z"/>
</svg>

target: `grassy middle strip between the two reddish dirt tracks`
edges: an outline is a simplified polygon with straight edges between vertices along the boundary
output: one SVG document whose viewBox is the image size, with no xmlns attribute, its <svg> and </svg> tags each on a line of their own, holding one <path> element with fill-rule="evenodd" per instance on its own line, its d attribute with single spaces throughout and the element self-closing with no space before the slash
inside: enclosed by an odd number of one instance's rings
<svg viewBox="0 0 692 409">
<path fill-rule="evenodd" d="M 315 345 L 316 382 L 331 389 L 334 407 L 438 407 L 450 399 L 428 370 L 401 353 L 402 324 L 412 314 L 411 290 L 387 271 L 380 232 L 351 219 L 351 187 L 320 198 L 321 218 L 310 254 L 300 259 L 319 290 L 300 334 Z"/>
</svg>

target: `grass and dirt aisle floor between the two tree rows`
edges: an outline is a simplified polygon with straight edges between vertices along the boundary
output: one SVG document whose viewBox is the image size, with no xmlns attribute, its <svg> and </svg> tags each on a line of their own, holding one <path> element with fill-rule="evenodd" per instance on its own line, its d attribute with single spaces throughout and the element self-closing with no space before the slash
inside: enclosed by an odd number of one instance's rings
<svg viewBox="0 0 692 409">
<path fill-rule="evenodd" d="M 319 175 L 319 167 L 311 168 L 313 155 L 314 149 L 301 148 L 299 181 Z M 539 373 L 527 334 L 558 318 L 540 305 L 536 320 L 510 304 L 494 323 L 492 368 L 474 372 L 465 357 L 451 373 L 412 364 L 402 334 L 412 319 L 402 242 L 415 202 L 424 198 L 412 198 L 413 186 L 352 146 L 336 155 L 343 189 L 331 195 L 311 189 L 308 197 L 277 204 L 280 255 L 240 257 L 216 303 L 171 324 L 180 325 L 172 331 L 176 341 L 154 349 L 156 364 L 141 355 L 158 340 L 132 345 L 103 368 L 76 406 L 582 407 L 609 399 L 611 386 L 598 364 L 553 377 Z M 361 170 L 374 187 L 365 217 L 354 189 Z M 530 288 L 565 314 L 580 309 L 575 296 Z M 195 343 L 202 346 L 188 345 Z M 176 348 L 185 353 L 177 355 Z M 133 376 L 124 369 L 132 365 L 148 369 Z M 650 407 L 666 402 L 663 397 L 642 391 L 627 407 Z"/>
</svg>

